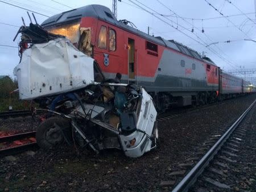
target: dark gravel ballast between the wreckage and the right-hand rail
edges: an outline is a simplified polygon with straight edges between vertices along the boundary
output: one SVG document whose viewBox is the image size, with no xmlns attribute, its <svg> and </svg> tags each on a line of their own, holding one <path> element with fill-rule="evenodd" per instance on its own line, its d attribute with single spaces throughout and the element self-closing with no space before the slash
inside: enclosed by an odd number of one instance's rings
<svg viewBox="0 0 256 192">
<path fill-rule="evenodd" d="M 61 146 L 51 152 L 0 158 L 2 190 L 163 190 L 171 189 L 170 173 L 242 114 L 255 95 L 230 99 L 177 118 L 159 122 L 159 144 L 140 158 L 121 151 L 91 151 Z M 169 183 L 166 182 L 169 181 Z M 163 185 L 165 184 L 165 185 Z"/>
</svg>

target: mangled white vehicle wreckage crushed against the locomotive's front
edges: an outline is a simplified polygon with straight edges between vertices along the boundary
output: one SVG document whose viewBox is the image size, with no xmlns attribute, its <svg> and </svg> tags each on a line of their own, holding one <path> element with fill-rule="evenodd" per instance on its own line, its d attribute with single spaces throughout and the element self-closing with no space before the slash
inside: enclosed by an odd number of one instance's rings
<svg viewBox="0 0 256 192">
<path fill-rule="evenodd" d="M 19 97 L 48 111 L 36 132 L 40 147 L 67 141 L 96 153 L 121 149 L 129 157 L 156 147 L 157 114 L 143 87 L 106 81 L 96 61 L 37 24 L 18 32 L 21 59 L 14 74 Z"/>
</svg>

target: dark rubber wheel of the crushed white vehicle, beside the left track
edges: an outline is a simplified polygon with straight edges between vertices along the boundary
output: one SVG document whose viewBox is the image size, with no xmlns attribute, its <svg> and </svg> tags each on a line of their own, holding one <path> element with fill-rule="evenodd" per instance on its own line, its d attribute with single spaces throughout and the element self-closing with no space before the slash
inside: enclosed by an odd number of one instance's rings
<svg viewBox="0 0 256 192">
<path fill-rule="evenodd" d="M 64 129 L 69 128 L 69 121 L 59 116 L 53 116 L 42 122 L 36 130 L 36 143 L 40 148 L 49 149 L 63 143 Z"/>
</svg>

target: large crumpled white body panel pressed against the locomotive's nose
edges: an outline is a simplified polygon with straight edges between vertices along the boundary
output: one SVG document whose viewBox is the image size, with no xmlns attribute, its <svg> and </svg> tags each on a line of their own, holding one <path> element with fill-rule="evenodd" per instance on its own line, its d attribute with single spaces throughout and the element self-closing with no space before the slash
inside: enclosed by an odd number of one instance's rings
<svg viewBox="0 0 256 192">
<path fill-rule="evenodd" d="M 80 89 L 94 81 L 93 59 L 67 39 L 34 44 L 14 68 L 20 99 L 34 99 Z"/>
</svg>

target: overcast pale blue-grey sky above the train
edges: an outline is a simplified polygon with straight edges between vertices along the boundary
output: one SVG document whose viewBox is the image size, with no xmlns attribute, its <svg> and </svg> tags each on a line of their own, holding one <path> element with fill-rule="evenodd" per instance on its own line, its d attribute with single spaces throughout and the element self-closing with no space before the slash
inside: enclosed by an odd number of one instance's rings
<svg viewBox="0 0 256 192">
<path fill-rule="evenodd" d="M 174 39 L 200 53 L 204 51 L 205 55 L 210 57 L 210 59 L 224 70 L 239 69 L 240 67 L 248 69 L 256 68 L 256 42 L 243 40 L 256 40 L 254 0 L 230 0 L 229 2 L 226 0 L 207 1 L 220 11 L 221 14 L 229 17 L 216 18 L 221 16 L 220 13 L 209 6 L 205 0 L 122 0 L 122 2 L 117 2 L 117 18 L 118 20 L 130 20 L 143 32 L 147 32 L 147 27 L 149 26 L 150 35 L 162 36 L 167 40 Z M 5 2 L 40 12 L 47 16 L 71 10 L 70 7 L 77 8 L 90 4 L 104 5 L 112 10 L 112 0 L 6 0 Z M 63 5 L 57 2 L 61 2 Z M 143 7 L 143 9 L 152 9 L 149 11 L 154 13 L 154 15 L 142 10 L 132 2 Z M 25 10 L 2 2 L 0 2 L 0 5 L 0 45 L 17 47 L 19 38 L 15 42 L 13 42 L 13 38 L 19 27 L 15 26 L 22 25 L 22 16 L 26 24 L 29 24 L 27 13 Z M 237 14 L 241 15 L 232 16 Z M 42 23 L 47 19 L 46 16 L 38 14 L 35 14 L 35 16 L 38 23 Z M 155 16 L 164 20 L 164 22 Z M 7 26 L 3 23 L 13 26 Z M 204 28 L 204 33 L 201 32 L 202 27 Z M 193 33 L 191 32 L 192 28 L 194 28 Z M 187 35 L 184 35 L 182 32 Z M 227 40 L 230 40 L 230 43 L 224 43 Z M 216 44 L 209 45 L 211 43 Z M 206 45 L 209 46 L 205 47 Z M 13 77 L 13 69 L 18 62 L 18 48 L 0 46 L 0 75 L 10 75 Z"/>
</svg>

